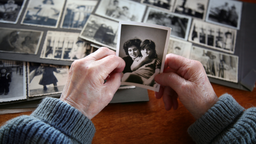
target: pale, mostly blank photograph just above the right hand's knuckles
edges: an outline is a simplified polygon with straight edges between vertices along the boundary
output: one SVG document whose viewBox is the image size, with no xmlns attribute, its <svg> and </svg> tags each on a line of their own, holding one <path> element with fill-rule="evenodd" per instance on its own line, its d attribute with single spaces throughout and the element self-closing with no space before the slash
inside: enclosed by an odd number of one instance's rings
<svg viewBox="0 0 256 144">
<path fill-rule="evenodd" d="M 170 37 L 167 54 L 172 53 L 189 59 L 191 48 L 192 43 Z"/>
</svg>

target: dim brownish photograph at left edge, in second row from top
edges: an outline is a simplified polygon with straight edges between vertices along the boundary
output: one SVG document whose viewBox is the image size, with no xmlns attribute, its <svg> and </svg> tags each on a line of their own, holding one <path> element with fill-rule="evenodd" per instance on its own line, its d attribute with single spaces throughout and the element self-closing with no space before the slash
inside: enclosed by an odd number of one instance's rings
<svg viewBox="0 0 256 144">
<path fill-rule="evenodd" d="M 0 52 L 36 55 L 43 31 L 0 28 Z"/>
</svg>

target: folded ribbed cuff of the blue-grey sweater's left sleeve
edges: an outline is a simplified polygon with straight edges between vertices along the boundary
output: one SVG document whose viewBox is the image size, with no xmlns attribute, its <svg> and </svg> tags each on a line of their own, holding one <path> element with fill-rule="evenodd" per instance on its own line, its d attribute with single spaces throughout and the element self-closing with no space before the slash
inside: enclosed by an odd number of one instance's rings
<svg viewBox="0 0 256 144">
<path fill-rule="evenodd" d="M 91 143 L 95 133 L 90 119 L 57 98 L 44 98 L 31 115 L 69 136 L 74 143 Z"/>
</svg>

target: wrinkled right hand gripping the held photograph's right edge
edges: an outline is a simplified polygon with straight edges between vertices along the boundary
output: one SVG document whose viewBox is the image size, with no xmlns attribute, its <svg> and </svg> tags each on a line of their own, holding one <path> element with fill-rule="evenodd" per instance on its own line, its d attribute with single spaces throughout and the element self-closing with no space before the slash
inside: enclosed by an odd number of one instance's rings
<svg viewBox="0 0 256 144">
<path fill-rule="evenodd" d="M 166 110 L 172 107 L 177 109 L 179 98 L 195 119 L 200 118 L 219 100 L 203 65 L 175 54 L 166 56 L 164 73 L 156 75 L 155 82 L 161 85 L 155 97 L 163 97 Z"/>
</svg>

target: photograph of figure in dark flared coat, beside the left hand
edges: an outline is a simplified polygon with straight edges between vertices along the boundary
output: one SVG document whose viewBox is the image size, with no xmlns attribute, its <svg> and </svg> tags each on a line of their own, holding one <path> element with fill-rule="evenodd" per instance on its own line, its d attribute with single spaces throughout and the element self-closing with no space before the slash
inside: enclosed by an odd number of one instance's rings
<svg viewBox="0 0 256 144">
<path fill-rule="evenodd" d="M 68 79 L 69 67 L 43 63 L 27 63 L 28 96 L 61 93 Z"/>
</svg>

